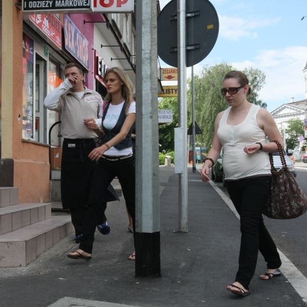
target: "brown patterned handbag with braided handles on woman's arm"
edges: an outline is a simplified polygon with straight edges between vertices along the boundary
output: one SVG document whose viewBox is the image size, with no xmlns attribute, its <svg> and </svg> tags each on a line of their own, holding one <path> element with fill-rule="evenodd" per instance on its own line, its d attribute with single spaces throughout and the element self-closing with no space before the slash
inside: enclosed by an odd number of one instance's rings
<svg viewBox="0 0 307 307">
<path fill-rule="evenodd" d="M 307 210 L 307 199 L 287 167 L 280 143 L 274 142 L 278 146 L 282 167 L 279 170 L 274 167 L 273 155 L 269 153 L 272 172 L 271 195 L 262 213 L 280 220 L 295 218 Z"/>
</svg>

